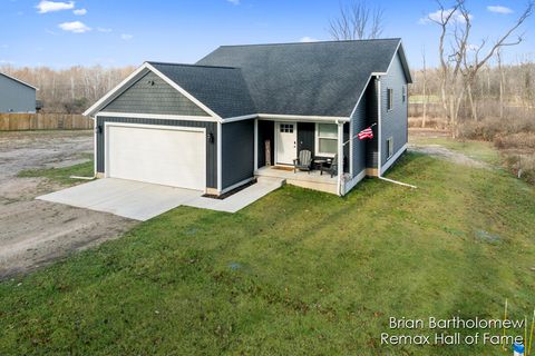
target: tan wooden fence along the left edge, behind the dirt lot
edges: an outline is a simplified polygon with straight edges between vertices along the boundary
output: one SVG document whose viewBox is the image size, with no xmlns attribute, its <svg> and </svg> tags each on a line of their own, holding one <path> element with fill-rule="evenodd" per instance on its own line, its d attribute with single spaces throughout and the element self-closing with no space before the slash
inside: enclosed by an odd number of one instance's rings
<svg viewBox="0 0 535 356">
<path fill-rule="evenodd" d="M 0 131 L 87 130 L 93 120 L 69 113 L 0 113 Z"/>
</svg>

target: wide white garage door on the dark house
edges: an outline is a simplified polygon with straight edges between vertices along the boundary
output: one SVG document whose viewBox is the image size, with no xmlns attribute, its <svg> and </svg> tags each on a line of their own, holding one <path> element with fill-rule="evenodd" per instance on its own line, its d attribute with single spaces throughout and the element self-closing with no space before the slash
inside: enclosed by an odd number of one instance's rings
<svg viewBox="0 0 535 356">
<path fill-rule="evenodd" d="M 108 177 L 205 190 L 204 131 L 108 125 Z"/>
</svg>

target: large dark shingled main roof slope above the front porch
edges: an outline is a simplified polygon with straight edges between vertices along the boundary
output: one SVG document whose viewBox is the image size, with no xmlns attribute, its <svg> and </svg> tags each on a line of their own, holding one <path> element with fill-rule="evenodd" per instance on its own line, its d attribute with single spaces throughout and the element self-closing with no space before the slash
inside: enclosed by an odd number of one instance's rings
<svg viewBox="0 0 535 356">
<path fill-rule="evenodd" d="M 197 65 L 240 68 L 257 113 L 349 117 L 370 75 L 388 70 L 399 44 L 400 39 L 381 39 L 223 46 Z M 211 85 L 203 90 L 217 91 Z M 244 90 L 239 90 L 243 97 Z M 249 110 L 247 105 L 241 115 Z"/>
</svg>

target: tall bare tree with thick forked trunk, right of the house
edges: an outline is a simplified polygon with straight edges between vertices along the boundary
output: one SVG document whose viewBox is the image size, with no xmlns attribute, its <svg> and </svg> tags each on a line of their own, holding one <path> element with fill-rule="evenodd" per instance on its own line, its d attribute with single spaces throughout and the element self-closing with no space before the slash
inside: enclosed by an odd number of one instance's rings
<svg viewBox="0 0 535 356">
<path fill-rule="evenodd" d="M 485 63 L 504 47 L 515 46 L 523 41 L 523 36 L 509 40 L 516 30 L 533 14 L 535 2 L 531 0 L 516 22 L 495 43 L 486 49 L 487 40 L 480 40 L 479 46 L 471 46 L 471 14 L 465 6 L 465 0 L 456 0 L 453 7 L 446 9 L 441 0 L 437 0 L 440 18 L 429 20 L 440 27 L 439 58 L 441 71 L 441 100 L 449 119 L 453 136 L 457 136 L 460 103 L 466 95 L 470 102 L 471 115 L 477 120 L 477 108 L 474 100 L 474 83 L 476 76 Z M 451 34 L 450 34 L 451 33 Z M 450 50 L 445 50 L 446 40 L 450 38 Z M 485 55 L 481 55 L 484 51 Z"/>
</svg>

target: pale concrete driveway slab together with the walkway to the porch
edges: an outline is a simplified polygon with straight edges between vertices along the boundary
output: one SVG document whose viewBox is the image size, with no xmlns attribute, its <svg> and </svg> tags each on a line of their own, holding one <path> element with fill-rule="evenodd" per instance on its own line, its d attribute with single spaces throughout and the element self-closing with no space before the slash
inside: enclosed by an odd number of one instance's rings
<svg viewBox="0 0 535 356">
<path fill-rule="evenodd" d="M 64 189 L 36 199 L 105 211 L 135 220 L 148 220 L 181 205 L 236 212 L 283 185 L 283 179 L 260 178 L 259 182 L 224 200 L 204 198 L 197 190 L 173 188 L 115 178 Z"/>
</svg>

